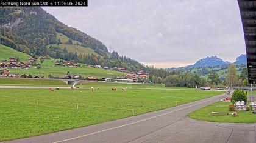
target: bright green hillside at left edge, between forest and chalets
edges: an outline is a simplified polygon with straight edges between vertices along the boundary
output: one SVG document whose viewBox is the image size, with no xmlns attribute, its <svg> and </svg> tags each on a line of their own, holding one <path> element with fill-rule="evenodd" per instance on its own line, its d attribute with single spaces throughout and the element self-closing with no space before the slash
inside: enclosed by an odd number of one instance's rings
<svg viewBox="0 0 256 143">
<path fill-rule="evenodd" d="M 9 59 L 10 57 L 18 57 L 20 61 L 27 61 L 31 56 L 13 50 L 10 47 L 0 44 L 0 60 Z"/>
</svg>

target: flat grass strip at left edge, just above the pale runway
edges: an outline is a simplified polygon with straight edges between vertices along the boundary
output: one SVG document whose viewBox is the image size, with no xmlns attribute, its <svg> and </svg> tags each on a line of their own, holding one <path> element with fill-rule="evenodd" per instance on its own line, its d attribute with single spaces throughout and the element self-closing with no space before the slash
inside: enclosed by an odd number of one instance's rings
<svg viewBox="0 0 256 143">
<path fill-rule="evenodd" d="M 10 86 L 68 86 L 58 79 L 0 78 L 0 85 Z"/>
</svg>

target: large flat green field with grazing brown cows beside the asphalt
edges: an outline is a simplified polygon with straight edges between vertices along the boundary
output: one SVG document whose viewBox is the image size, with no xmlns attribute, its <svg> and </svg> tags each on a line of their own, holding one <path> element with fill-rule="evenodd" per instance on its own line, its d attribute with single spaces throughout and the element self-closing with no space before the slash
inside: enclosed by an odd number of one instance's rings
<svg viewBox="0 0 256 143">
<path fill-rule="evenodd" d="M 88 84 L 100 87 L 95 92 L 81 88 L 54 92 L 0 89 L 0 141 L 126 118 L 133 116 L 133 111 L 138 115 L 160 110 L 160 106 L 161 109 L 173 107 L 222 93 L 159 85 L 133 85 L 135 88 L 126 88 L 123 92 L 119 85 L 117 91 L 110 91 L 113 85 Z"/>
</svg>

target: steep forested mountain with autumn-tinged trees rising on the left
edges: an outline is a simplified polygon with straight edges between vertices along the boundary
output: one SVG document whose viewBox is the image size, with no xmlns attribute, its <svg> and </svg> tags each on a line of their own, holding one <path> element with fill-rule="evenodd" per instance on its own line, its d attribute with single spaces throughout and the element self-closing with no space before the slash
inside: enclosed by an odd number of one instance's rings
<svg viewBox="0 0 256 143">
<path fill-rule="evenodd" d="M 144 66 L 135 60 L 119 56 L 117 52 L 109 53 L 101 41 L 76 28 L 68 27 L 41 7 L 1 7 L 0 30 L 1 44 L 31 56 L 49 55 L 52 58 L 85 64 L 125 67 L 132 71 L 144 69 Z M 68 41 L 62 43 L 58 34 L 68 37 Z M 74 53 L 59 46 L 52 46 L 59 44 L 91 48 L 91 53 L 97 54 Z"/>
</svg>

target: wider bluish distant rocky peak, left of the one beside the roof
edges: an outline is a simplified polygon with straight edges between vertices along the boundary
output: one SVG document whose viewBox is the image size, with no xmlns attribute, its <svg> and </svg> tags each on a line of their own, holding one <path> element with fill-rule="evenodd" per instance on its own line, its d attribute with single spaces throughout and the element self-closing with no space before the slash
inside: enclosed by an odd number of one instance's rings
<svg viewBox="0 0 256 143">
<path fill-rule="evenodd" d="M 218 65 L 229 65 L 229 62 L 225 62 L 217 56 L 207 56 L 207 58 L 199 59 L 194 65 L 188 65 L 187 68 L 215 67 Z"/>
</svg>

